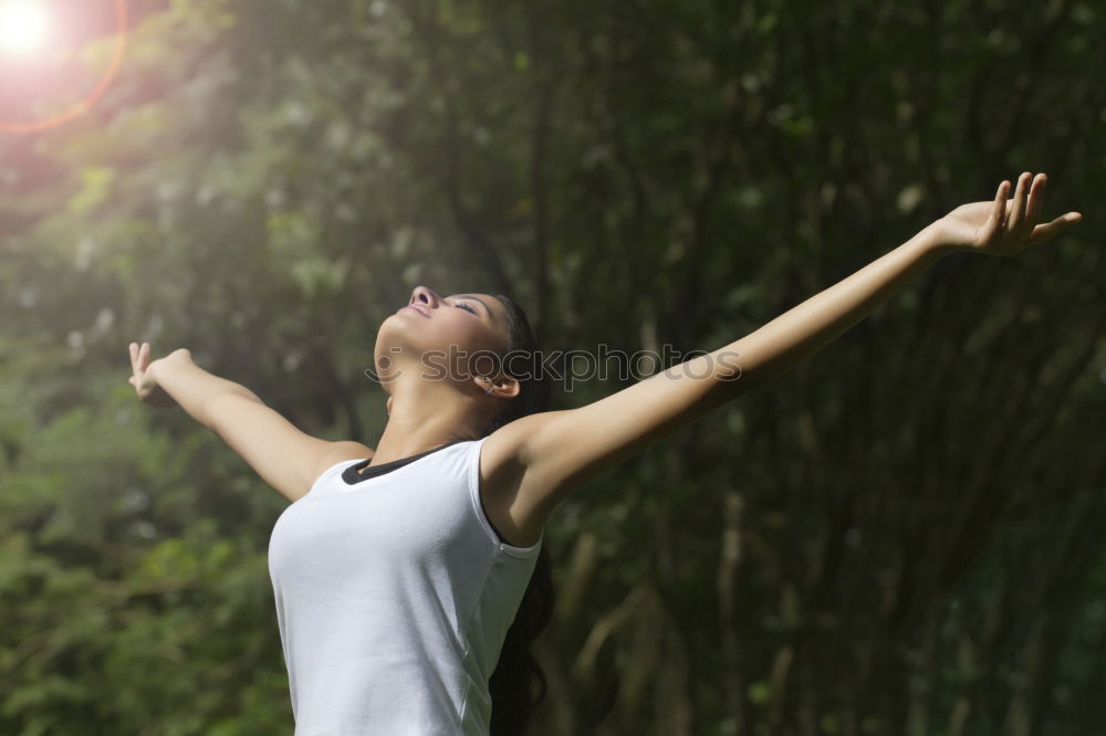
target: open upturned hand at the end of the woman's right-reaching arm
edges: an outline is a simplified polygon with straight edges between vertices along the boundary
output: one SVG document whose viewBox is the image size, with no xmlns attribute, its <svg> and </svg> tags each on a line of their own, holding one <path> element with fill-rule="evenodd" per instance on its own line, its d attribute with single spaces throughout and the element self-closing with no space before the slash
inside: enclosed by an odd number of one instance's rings
<svg viewBox="0 0 1106 736">
<path fill-rule="evenodd" d="M 961 204 L 929 228 L 942 250 L 1015 255 L 1083 219 L 1078 212 L 1068 212 L 1052 222 L 1037 224 L 1046 178 L 1039 174 L 1031 183 L 1031 175 L 1025 171 L 1018 177 L 1012 200 L 1006 199 L 1010 182 L 1003 181 L 993 201 Z"/>
</svg>

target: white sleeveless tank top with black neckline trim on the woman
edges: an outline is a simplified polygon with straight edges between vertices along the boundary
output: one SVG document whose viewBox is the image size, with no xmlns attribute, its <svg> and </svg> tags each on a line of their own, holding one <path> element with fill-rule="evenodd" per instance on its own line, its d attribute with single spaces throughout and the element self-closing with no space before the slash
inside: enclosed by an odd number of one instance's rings
<svg viewBox="0 0 1106 736">
<path fill-rule="evenodd" d="M 502 542 L 460 440 L 332 465 L 276 519 L 269 575 L 295 736 L 489 734 L 488 680 L 545 538 Z"/>
</svg>

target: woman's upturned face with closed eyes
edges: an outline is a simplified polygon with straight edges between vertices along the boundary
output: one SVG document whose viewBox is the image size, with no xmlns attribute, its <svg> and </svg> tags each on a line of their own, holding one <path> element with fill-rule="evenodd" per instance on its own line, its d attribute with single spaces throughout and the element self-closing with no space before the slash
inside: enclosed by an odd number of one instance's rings
<svg viewBox="0 0 1106 736">
<path fill-rule="evenodd" d="M 494 296 L 439 296 L 420 285 L 407 305 L 380 325 L 376 370 L 382 381 L 394 377 L 396 367 L 414 368 L 424 378 L 457 381 L 494 376 L 491 356 L 502 355 L 508 343 L 507 311 Z"/>
</svg>

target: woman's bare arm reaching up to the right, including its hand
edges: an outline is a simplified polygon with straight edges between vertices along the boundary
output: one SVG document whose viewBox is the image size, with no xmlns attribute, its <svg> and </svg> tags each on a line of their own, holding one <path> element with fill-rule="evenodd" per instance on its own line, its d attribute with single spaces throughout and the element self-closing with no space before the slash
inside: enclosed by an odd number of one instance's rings
<svg viewBox="0 0 1106 736">
<path fill-rule="evenodd" d="M 1013 200 L 963 204 L 844 281 L 754 333 L 578 409 L 524 417 L 489 438 L 492 456 L 514 467 L 511 515 L 531 532 L 572 488 L 657 440 L 786 372 L 902 288 L 941 255 L 1013 255 L 1079 219 L 1036 224 L 1044 175 L 1023 174 Z M 502 433 L 502 437 L 497 437 Z M 490 466 L 495 461 L 490 461 Z M 534 535 L 531 535 L 534 536 Z"/>
</svg>

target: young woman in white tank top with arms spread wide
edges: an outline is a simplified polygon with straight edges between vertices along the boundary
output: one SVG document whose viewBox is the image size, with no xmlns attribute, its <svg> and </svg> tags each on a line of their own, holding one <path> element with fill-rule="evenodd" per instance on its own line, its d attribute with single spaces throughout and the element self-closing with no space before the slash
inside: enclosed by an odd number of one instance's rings
<svg viewBox="0 0 1106 736">
<path fill-rule="evenodd" d="M 180 406 L 292 502 L 269 561 L 298 735 L 520 734 L 526 649 L 552 607 L 553 509 L 790 370 L 941 255 L 1014 255 L 1077 222 L 1037 224 L 1044 186 L 1025 172 L 1008 200 L 1003 181 L 994 200 L 958 207 L 754 333 L 576 409 L 547 410 L 513 301 L 425 286 L 377 334 L 389 416 L 375 450 L 300 432 L 184 348 L 150 361 L 149 344 L 132 343 L 129 382 L 143 401 Z M 531 359 L 520 368 L 519 356 Z"/>
</svg>

